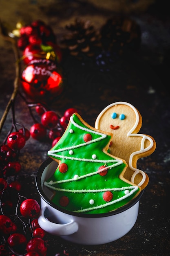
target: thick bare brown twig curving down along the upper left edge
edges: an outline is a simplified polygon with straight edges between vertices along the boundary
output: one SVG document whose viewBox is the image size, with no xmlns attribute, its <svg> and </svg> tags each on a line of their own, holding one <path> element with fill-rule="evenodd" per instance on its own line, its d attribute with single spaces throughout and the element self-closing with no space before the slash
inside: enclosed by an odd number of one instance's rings
<svg viewBox="0 0 170 256">
<path fill-rule="evenodd" d="M 2 29 L 2 22 L 0 21 L 0 36 L 2 36 L 2 38 L 4 40 L 7 40 L 9 42 L 12 43 L 13 45 L 13 52 L 15 54 L 15 80 L 14 80 L 14 83 L 13 83 L 13 93 L 11 94 L 11 98 L 9 99 L 9 102 L 5 108 L 5 111 L 2 115 L 2 118 L 0 120 L 0 133 L 2 131 L 2 127 L 4 125 L 4 122 L 7 118 L 7 115 L 8 115 L 8 112 L 11 108 L 11 104 L 12 102 L 14 101 L 17 93 L 18 93 L 18 89 L 19 89 L 19 86 L 20 86 L 20 70 L 21 70 L 21 66 L 20 66 L 20 62 L 18 61 L 19 58 L 20 58 L 20 54 L 19 54 L 19 50 L 18 50 L 18 47 L 17 47 L 17 42 L 15 40 L 15 38 L 11 38 L 9 36 L 6 36 L 3 34 L 3 29 Z"/>
</svg>

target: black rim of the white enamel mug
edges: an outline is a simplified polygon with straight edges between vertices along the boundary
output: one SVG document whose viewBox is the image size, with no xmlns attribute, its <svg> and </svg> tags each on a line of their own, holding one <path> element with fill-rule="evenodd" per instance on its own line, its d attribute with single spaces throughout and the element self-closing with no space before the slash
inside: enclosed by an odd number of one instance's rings
<svg viewBox="0 0 170 256">
<path fill-rule="evenodd" d="M 41 186 L 41 177 L 42 177 L 42 174 L 44 172 L 44 169 L 49 165 L 51 164 L 51 162 L 53 162 L 55 160 L 53 160 L 52 158 L 47 158 L 41 165 L 40 165 L 40 168 L 38 169 L 37 171 L 37 175 L 35 177 L 35 184 L 36 184 L 36 187 L 37 187 L 37 190 L 38 190 L 38 193 L 40 194 L 41 198 L 47 203 L 49 204 L 49 206 L 55 208 L 56 210 L 58 211 L 61 211 L 63 213 L 66 213 L 66 214 L 69 214 L 69 215 L 72 215 L 72 216 L 77 216 L 77 217 L 83 217 L 83 218 L 101 218 L 101 217 L 107 217 L 107 216 L 113 216 L 113 215 L 116 215 L 116 214 L 119 214 L 123 211 L 126 211 L 128 209 L 130 209 L 132 206 L 134 206 L 141 198 L 141 196 L 143 195 L 144 193 L 144 189 L 139 193 L 139 195 L 132 199 L 131 202 L 129 202 L 128 204 L 114 210 L 114 211 L 109 211 L 107 213 L 75 213 L 73 211 L 68 211 L 66 209 L 63 209 L 62 207 L 59 207 L 57 206 L 55 203 L 53 203 L 47 196 L 46 194 L 44 193 L 43 189 L 42 189 L 42 186 Z"/>
</svg>

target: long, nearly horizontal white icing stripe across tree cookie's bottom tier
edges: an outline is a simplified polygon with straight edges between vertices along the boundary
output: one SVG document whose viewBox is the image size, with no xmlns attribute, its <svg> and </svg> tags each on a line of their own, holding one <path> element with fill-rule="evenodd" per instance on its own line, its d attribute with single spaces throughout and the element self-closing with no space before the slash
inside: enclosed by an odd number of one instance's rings
<svg viewBox="0 0 170 256">
<path fill-rule="evenodd" d="M 50 183 L 51 184 L 51 183 Z M 138 186 L 126 186 L 126 187 L 121 187 L 121 188 L 112 188 L 112 189 L 60 189 L 51 186 L 48 182 L 44 182 L 45 186 L 48 186 L 50 189 L 56 190 L 56 191 L 62 191 L 62 192 L 68 192 L 68 193 L 97 193 L 97 192 L 106 192 L 106 191 L 123 191 L 126 189 L 135 189 L 138 188 Z"/>
</svg>

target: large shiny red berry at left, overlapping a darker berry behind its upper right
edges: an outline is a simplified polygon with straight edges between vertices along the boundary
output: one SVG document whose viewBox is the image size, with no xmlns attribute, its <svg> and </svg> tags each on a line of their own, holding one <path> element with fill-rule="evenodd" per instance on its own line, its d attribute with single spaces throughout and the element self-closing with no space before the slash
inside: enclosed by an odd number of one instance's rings
<svg viewBox="0 0 170 256">
<path fill-rule="evenodd" d="M 11 132 L 7 144 L 11 149 L 20 150 L 25 146 L 25 137 L 20 132 Z"/>
</svg>

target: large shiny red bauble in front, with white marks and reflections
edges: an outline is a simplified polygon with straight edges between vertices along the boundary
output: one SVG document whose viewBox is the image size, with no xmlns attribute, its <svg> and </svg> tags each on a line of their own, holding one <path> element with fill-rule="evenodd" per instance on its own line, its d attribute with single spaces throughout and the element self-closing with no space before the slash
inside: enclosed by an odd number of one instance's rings
<svg viewBox="0 0 170 256">
<path fill-rule="evenodd" d="M 53 100 L 64 87 L 60 68 L 45 59 L 31 61 L 22 72 L 21 83 L 25 94 L 40 102 Z"/>
</svg>

